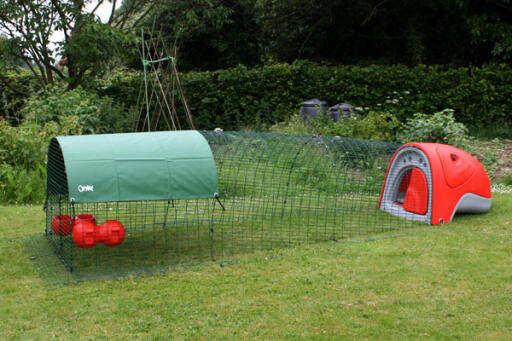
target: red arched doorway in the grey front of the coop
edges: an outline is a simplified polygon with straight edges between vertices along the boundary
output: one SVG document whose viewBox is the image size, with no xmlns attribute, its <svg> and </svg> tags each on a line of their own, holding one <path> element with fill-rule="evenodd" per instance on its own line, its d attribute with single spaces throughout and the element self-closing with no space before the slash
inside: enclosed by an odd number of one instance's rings
<svg viewBox="0 0 512 341">
<path fill-rule="evenodd" d="M 427 178 L 419 168 L 411 168 L 402 176 L 396 203 L 407 212 L 416 214 L 427 213 Z"/>
</svg>

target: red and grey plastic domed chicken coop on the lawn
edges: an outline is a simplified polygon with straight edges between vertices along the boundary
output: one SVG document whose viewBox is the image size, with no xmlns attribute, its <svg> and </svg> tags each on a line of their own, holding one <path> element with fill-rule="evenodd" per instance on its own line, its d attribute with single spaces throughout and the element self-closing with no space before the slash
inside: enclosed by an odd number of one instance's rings
<svg viewBox="0 0 512 341">
<path fill-rule="evenodd" d="M 491 184 L 477 159 L 440 143 L 407 143 L 393 155 L 379 208 L 409 220 L 437 225 L 455 213 L 485 213 Z"/>
</svg>

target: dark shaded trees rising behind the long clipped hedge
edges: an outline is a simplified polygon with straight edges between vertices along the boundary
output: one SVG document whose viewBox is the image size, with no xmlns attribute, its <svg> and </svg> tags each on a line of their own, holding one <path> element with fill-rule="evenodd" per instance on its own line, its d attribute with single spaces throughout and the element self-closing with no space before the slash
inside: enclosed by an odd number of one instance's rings
<svg viewBox="0 0 512 341">
<path fill-rule="evenodd" d="M 296 59 L 329 63 L 508 62 L 510 0 L 162 0 L 141 22 L 178 41 L 186 70 Z"/>
</svg>

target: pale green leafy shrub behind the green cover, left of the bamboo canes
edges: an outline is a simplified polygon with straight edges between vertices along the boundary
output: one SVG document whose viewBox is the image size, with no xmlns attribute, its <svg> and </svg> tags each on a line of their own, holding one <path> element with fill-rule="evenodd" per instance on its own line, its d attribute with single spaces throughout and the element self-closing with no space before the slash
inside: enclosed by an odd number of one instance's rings
<svg viewBox="0 0 512 341">
<path fill-rule="evenodd" d="M 32 96 L 21 109 L 21 114 L 38 126 L 48 122 L 60 124 L 63 118 L 76 116 L 78 126 L 86 134 L 127 132 L 133 127 L 124 107 L 108 96 L 100 97 L 82 88 L 70 91 L 47 88 Z"/>
</svg>

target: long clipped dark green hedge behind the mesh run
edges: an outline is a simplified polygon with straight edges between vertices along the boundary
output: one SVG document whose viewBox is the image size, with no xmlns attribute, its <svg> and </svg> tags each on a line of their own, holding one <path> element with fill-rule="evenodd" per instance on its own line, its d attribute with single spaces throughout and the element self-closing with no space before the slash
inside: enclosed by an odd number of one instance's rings
<svg viewBox="0 0 512 341">
<path fill-rule="evenodd" d="M 127 71 L 125 71 L 127 72 Z M 140 89 L 140 74 L 117 75 L 103 84 L 110 96 L 127 101 Z M 414 113 L 445 108 L 470 127 L 512 122 L 512 68 L 404 65 L 326 66 L 299 61 L 263 68 L 182 75 L 192 115 L 200 129 L 240 129 L 271 125 L 298 112 L 300 103 L 319 98 L 329 105 L 388 111 L 404 121 Z"/>
</svg>

